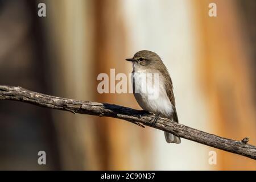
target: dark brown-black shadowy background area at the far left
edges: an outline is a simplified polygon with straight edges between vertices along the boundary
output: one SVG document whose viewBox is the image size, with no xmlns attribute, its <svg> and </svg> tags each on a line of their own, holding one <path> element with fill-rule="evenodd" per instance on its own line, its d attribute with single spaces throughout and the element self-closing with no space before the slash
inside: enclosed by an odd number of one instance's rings
<svg viewBox="0 0 256 182">
<path fill-rule="evenodd" d="M 37 1 L 0 1 L 0 84 L 51 94 Z M 60 169 L 51 110 L 0 102 L 0 169 Z M 47 165 L 38 164 L 46 151 Z"/>
</svg>

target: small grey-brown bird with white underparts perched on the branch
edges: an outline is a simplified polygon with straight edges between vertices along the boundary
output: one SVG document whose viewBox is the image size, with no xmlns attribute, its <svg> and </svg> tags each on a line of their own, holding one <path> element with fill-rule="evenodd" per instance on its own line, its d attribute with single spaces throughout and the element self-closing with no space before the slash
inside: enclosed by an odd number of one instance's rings
<svg viewBox="0 0 256 182">
<path fill-rule="evenodd" d="M 154 123 L 159 116 L 173 119 L 174 122 L 179 122 L 175 108 L 174 92 L 172 91 L 172 80 L 160 57 L 155 52 L 143 50 L 135 53 L 133 58 L 126 60 L 133 63 L 133 72 L 131 74 L 133 94 L 139 106 L 141 106 L 143 110 L 156 115 Z M 142 79 L 142 74 L 146 75 L 146 79 Z M 156 83 L 152 78 L 152 75 L 155 74 L 158 75 L 157 87 L 152 83 L 148 84 L 148 81 Z M 146 85 L 146 92 L 142 92 L 143 88 L 141 89 L 140 84 Z M 135 92 L 136 89 L 138 89 L 139 92 Z M 150 92 L 158 92 L 158 97 L 150 99 Z M 167 143 L 180 143 L 180 138 L 171 133 L 164 131 L 164 136 Z"/>
</svg>

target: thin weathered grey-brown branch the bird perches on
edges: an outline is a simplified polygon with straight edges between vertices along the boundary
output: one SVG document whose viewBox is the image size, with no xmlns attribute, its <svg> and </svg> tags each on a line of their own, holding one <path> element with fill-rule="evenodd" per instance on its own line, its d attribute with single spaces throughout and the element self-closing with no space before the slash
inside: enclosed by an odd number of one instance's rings
<svg viewBox="0 0 256 182">
<path fill-rule="evenodd" d="M 151 123 L 155 115 L 147 113 L 146 111 L 135 110 L 113 104 L 78 101 L 68 98 L 48 96 L 46 94 L 32 92 L 16 86 L 0 85 L 0 100 L 22 101 L 33 105 L 48 107 L 50 109 L 71 111 L 72 113 L 119 118 L 137 125 L 138 123 L 143 123 L 143 125 L 168 131 L 169 133 L 175 134 L 181 138 L 256 160 L 256 147 L 247 144 L 249 141 L 249 138 L 247 137 L 241 141 L 222 138 L 213 134 L 205 133 L 204 131 L 192 129 L 191 127 L 180 123 L 171 122 L 166 118 L 159 118 L 155 123 L 155 126 L 152 126 Z"/>
</svg>

